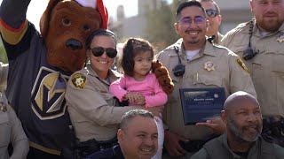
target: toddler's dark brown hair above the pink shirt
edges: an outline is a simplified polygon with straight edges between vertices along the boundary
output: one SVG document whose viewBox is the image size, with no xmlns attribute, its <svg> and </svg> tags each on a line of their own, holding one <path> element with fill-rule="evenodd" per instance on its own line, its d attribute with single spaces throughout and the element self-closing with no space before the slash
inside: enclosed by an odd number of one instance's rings
<svg viewBox="0 0 284 159">
<path fill-rule="evenodd" d="M 133 77 L 134 75 L 134 57 L 136 57 L 140 53 L 144 53 L 149 51 L 154 57 L 154 48 L 144 39 L 130 38 L 123 47 L 122 56 L 119 59 L 119 64 L 122 68 L 122 71 Z"/>
</svg>

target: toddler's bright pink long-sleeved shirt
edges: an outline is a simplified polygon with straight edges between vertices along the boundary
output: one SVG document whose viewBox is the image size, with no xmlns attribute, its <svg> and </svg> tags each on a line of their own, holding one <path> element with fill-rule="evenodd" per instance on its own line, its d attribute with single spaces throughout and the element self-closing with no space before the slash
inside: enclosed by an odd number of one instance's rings
<svg viewBox="0 0 284 159">
<path fill-rule="evenodd" d="M 161 106 L 168 101 L 168 95 L 163 92 L 153 73 L 148 73 L 146 78 L 141 81 L 137 81 L 124 74 L 120 79 L 117 79 L 110 85 L 109 91 L 120 102 L 122 102 L 123 96 L 128 92 L 140 93 L 145 96 L 146 107 Z"/>
</svg>

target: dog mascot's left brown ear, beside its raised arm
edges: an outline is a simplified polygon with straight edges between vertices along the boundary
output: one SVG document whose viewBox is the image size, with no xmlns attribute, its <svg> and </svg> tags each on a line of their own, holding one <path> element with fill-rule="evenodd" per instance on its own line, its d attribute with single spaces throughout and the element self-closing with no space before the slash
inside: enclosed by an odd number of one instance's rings
<svg viewBox="0 0 284 159">
<path fill-rule="evenodd" d="M 51 19 L 51 11 L 58 4 L 61 0 L 50 0 L 48 3 L 46 10 L 43 12 L 39 27 L 41 29 L 41 34 L 43 38 L 46 37 L 48 27 L 50 26 L 50 19 Z"/>
</svg>

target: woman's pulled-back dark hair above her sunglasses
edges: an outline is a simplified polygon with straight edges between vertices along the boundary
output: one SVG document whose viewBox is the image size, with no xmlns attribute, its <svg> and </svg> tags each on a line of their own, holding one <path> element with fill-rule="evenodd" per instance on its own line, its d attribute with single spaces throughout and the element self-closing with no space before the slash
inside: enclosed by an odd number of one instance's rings
<svg viewBox="0 0 284 159">
<path fill-rule="evenodd" d="M 95 36 L 99 36 L 99 35 L 112 37 L 114 39 L 115 46 L 116 46 L 117 40 L 116 40 L 115 34 L 108 29 L 100 28 L 100 29 L 94 31 L 93 33 L 91 33 L 90 36 L 88 36 L 88 38 L 86 40 L 86 48 L 87 49 L 91 49 L 91 41 L 94 39 Z"/>
</svg>

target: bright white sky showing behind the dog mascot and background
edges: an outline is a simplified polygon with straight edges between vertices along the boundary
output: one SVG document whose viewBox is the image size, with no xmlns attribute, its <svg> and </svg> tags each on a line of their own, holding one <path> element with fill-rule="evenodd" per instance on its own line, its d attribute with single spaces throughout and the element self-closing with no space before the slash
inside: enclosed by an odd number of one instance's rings
<svg viewBox="0 0 284 159">
<path fill-rule="evenodd" d="M 3 0 L 0 0 L 0 4 Z M 172 0 L 167 0 L 168 2 L 172 2 Z M 49 0 L 31 0 L 28 5 L 27 18 L 29 21 L 35 24 L 38 29 L 39 20 L 43 14 L 43 11 L 46 8 Z M 118 5 L 124 5 L 124 13 L 126 17 L 132 17 L 138 14 L 138 0 L 104 0 L 104 4 L 106 5 L 109 17 L 113 17 L 116 19 L 116 8 Z"/>
</svg>

